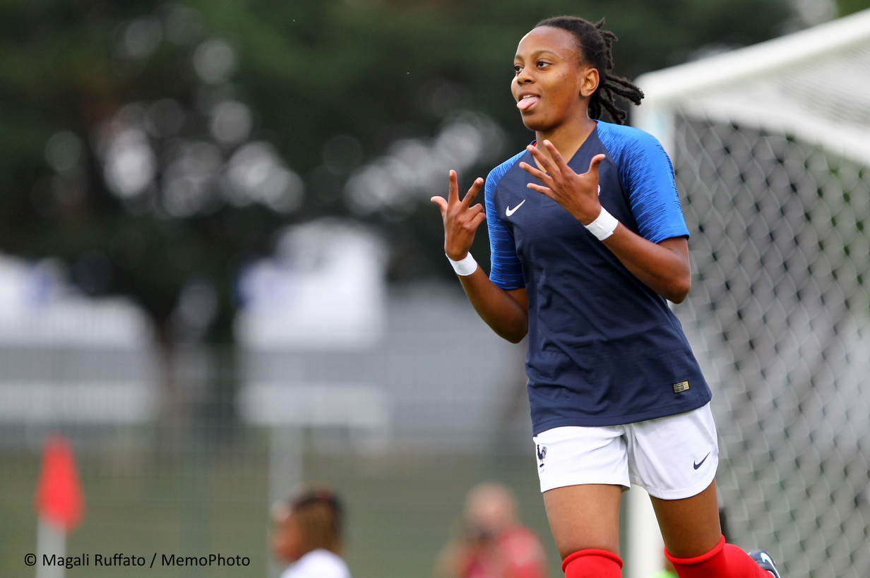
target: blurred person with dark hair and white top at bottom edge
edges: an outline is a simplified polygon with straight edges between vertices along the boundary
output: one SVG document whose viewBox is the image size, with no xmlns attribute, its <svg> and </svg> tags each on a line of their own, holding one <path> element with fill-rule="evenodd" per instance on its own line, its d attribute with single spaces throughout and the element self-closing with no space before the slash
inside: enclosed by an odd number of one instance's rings
<svg viewBox="0 0 870 578">
<path fill-rule="evenodd" d="M 281 578 L 351 578 L 341 557 L 343 508 L 329 488 L 311 488 L 273 516 L 272 555 L 289 563 Z"/>
</svg>

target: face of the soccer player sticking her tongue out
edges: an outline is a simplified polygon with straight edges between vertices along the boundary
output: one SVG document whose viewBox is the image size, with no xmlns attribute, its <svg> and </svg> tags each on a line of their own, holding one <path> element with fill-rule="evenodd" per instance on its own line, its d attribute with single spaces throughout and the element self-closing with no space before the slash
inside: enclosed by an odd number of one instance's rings
<svg viewBox="0 0 870 578">
<path fill-rule="evenodd" d="M 541 26 L 519 41 L 511 91 L 526 128 L 552 130 L 586 116 L 598 71 L 580 61 L 567 30 Z"/>
</svg>

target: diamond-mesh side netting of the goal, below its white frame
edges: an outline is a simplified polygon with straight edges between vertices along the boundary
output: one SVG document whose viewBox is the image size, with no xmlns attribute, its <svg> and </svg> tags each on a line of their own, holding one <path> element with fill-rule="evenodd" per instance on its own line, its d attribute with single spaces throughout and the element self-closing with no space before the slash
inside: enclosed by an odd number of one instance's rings
<svg viewBox="0 0 870 578">
<path fill-rule="evenodd" d="M 733 540 L 784 575 L 870 575 L 870 169 L 678 114 L 695 273 L 676 310 L 713 387 Z"/>
</svg>

